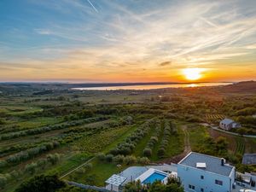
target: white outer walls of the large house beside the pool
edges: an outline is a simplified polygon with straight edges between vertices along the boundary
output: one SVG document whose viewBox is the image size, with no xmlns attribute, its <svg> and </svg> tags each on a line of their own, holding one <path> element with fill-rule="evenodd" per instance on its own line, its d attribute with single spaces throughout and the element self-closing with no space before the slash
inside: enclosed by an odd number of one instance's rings
<svg viewBox="0 0 256 192">
<path fill-rule="evenodd" d="M 201 179 L 201 175 L 204 176 L 204 179 Z M 232 188 L 230 177 L 180 164 L 177 165 L 177 177 L 183 183 L 184 190 L 188 192 L 201 192 L 201 189 L 204 189 L 204 192 L 229 192 Z M 215 179 L 222 181 L 223 185 L 216 184 Z M 189 184 L 194 185 L 195 190 L 189 189 Z"/>
</svg>

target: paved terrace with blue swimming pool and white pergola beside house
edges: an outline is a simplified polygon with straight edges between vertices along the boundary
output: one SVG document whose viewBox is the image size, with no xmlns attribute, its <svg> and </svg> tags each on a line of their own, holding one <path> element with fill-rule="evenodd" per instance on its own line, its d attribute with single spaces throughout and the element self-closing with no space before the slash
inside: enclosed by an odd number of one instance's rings
<svg viewBox="0 0 256 192">
<path fill-rule="evenodd" d="M 167 183 L 168 177 L 177 177 L 177 165 L 131 166 L 119 174 L 113 174 L 106 183 L 106 189 L 120 191 L 126 183 L 138 181 L 142 184 L 160 181 Z"/>
</svg>

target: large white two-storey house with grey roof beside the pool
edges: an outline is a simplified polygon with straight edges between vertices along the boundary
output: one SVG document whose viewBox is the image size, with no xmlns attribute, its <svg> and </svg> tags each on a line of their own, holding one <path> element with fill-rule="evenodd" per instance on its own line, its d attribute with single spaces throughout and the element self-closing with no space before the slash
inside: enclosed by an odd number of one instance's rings
<svg viewBox="0 0 256 192">
<path fill-rule="evenodd" d="M 235 166 L 218 157 L 191 152 L 177 164 L 177 177 L 186 192 L 230 192 Z"/>
</svg>

